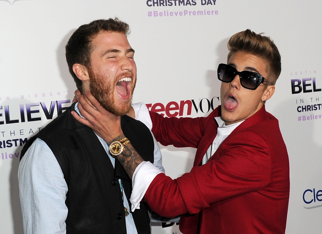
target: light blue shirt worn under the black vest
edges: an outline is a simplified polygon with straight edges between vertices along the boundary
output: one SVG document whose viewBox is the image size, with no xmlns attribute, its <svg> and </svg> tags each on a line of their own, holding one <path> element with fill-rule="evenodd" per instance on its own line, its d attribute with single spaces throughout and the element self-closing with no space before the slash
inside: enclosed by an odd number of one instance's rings
<svg viewBox="0 0 322 234">
<path fill-rule="evenodd" d="M 79 113 L 77 104 L 75 111 Z M 97 138 L 109 155 L 107 143 L 99 136 Z M 153 140 L 154 165 L 164 172 L 159 146 L 154 137 Z M 115 159 L 110 155 L 109 158 L 114 167 Z M 37 138 L 25 153 L 19 164 L 18 180 L 24 233 L 65 234 L 68 213 L 65 200 L 68 187 L 61 167 L 43 140 Z M 124 191 L 123 197 L 124 206 L 130 211 Z M 132 214 L 126 216 L 125 220 L 127 233 L 137 234 Z"/>
</svg>

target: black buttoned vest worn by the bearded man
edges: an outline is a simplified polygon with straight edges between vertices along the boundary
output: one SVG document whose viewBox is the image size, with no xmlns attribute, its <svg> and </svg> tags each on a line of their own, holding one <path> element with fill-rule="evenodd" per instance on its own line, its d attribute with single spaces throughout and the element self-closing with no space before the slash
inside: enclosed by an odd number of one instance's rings
<svg viewBox="0 0 322 234">
<path fill-rule="evenodd" d="M 68 186 L 65 201 L 68 208 L 67 234 L 126 234 L 118 178 L 122 179 L 128 199 L 132 190 L 131 181 L 118 160 L 115 160 L 113 168 L 95 133 L 72 117 L 74 105 L 28 140 L 21 158 L 37 137 L 52 150 Z M 127 115 L 121 117 L 121 128 L 140 156 L 153 163 L 154 142 L 148 128 Z M 150 234 L 146 203 L 141 202 L 140 209 L 132 215 L 137 233 Z"/>
</svg>

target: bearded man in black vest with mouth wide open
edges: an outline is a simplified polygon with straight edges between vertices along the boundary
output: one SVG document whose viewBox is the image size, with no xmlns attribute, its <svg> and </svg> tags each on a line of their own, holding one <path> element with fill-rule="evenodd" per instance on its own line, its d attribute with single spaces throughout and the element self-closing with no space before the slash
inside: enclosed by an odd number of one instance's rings
<svg viewBox="0 0 322 234">
<path fill-rule="evenodd" d="M 80 26 L 66 45 L 66 60 L 76 86 L 91 91 L 119 122 L 124 137 L 108 145 L 77 122 L 74 103 L 31 138 L 22 150 L 18 179 L 25 234 L 150 233 L 147 205 L 130 211 L 131 181 L 109 153 L 130 143 L 163 170 L 150 130 L 125 115 L 136 83 L 134 50 L 127 23 L 96 20 Z M 86 118 L 86 116 L 80 116 Z M 112 148 L 114 147 L 114 148 Z"/>
</svg>

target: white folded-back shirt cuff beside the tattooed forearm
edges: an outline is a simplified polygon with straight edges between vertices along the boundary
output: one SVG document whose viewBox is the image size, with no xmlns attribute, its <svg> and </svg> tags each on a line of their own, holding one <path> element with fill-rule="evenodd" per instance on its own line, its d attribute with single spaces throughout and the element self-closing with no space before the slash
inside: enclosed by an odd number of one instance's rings
<svg viewBox="0 0 322 234">
<path fill-rule="evenodd" d="M 163 172 L 147 161 L 141 162 L 137 166 L 132 176 L 132 194 L 130 198 L 132 212 L 135 209 L 140 209 L 140 202 L 147 192 L 148 187 L 156 175 L 160 173 Z"/>
</svg>

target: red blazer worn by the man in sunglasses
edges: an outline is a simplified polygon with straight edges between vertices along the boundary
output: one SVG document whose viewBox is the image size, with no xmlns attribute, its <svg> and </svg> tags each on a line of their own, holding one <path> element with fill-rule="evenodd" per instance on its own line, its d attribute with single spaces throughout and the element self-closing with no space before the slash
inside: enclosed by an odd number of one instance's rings
<svg viewBox="0 0 322 234">
<path fill-rule="evenodd" d="M 278 120 L 265 107 L 240 124 L 201 166 L 212 144 L 220 106 L 208 117 L 163 118 L 150 112 L 163 145 L 197 148 L 194 167 L 172 180 L 159 174 L 144 199 L 165 217 L 183 215 L 185 234 L 285 233 L 289 158 Z"/>
</svg>

